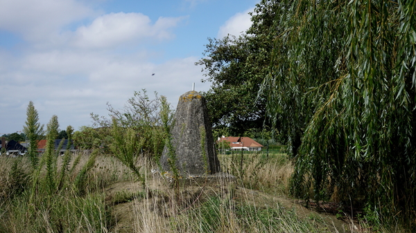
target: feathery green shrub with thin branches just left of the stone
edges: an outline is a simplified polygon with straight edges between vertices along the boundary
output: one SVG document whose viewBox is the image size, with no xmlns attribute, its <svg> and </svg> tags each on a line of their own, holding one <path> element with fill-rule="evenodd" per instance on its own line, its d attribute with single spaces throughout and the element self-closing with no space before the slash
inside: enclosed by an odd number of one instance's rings
<svg viewBox="0 0 416 233">
<path fill-rule="evenodd" d="M 98 128 L 83 127 L 74 133 L 74 141 L 80 148 L 99 147 L 112 153 L 144 185 L 145 177 L 141 167 L 137 167 L 137 159 L 147 156 L 159 163 L 166 138 L 164 127 L 170 127 L 173 111 L 166 97 L 155 93 L 155 99 L 151 100 L 146 90 L 135 92 L 122 110 L 108 104 L 108 111 L 111 120 L 92 113 L 94 126 Z"/>
</svg>

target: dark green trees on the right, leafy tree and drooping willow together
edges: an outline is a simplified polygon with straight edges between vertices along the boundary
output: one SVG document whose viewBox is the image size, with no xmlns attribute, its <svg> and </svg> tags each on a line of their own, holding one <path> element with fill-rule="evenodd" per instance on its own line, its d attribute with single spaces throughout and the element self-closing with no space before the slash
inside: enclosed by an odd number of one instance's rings
<svg viewBox="0 0 416 233">
<path fill-rule="evenodd" d="M 294 196 L 415 227 L 415 26 L 416 1 L 262 0 L 197 63 L 214 127 L 278 131 Z"/>
</svg>

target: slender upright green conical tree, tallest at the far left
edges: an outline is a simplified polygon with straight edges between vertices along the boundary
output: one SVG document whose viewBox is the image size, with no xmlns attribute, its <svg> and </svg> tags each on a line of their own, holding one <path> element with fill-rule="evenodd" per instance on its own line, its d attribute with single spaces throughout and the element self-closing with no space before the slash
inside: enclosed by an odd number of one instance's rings
<svg viewBox="0 0 416 233">
<path fill-rule="evenodd" d="M 28 107 L 26 109 L 26 126 L 23 127 L 23 131 L 28 137 L 29 140 L 29 148 L 28 148 L 28 156 L 31 159 L 31 163 L 33 168 L 37 166 L 37 142 L 42 137 L 44 133 L 44 125 L 40 124 L 39 122 L 39 114 L 33 106 L 33 102 L 30 101 Z"/>
</svg>

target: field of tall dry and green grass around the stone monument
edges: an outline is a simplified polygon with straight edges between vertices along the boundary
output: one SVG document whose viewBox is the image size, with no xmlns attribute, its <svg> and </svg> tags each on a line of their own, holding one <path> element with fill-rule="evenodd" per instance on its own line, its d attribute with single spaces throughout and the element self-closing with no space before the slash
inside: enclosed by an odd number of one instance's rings
<svg viewBox="0 0 416 233">
<path fill-rule="evenodd" d="M 372 232 L 288 198 L 293 166 L 281 151 L 220 154 L 234 181 L 177 190 L 145 159 L 137 160 L 143 186 L 112 156 L 69 158 L 55 158 L 49 171 L 0 157 L 0 232 Z"/>
</svg>

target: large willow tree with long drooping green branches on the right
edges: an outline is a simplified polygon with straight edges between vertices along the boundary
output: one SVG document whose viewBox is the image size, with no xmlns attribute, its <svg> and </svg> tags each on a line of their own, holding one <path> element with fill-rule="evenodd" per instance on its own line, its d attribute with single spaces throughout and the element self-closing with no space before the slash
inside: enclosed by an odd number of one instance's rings
<svg viewBox="0 0 416 233">
<path fill-rule="evenodd" d="M 416 1 L 277 1 L 263 82 L 296 196 L 415 216 Z"/>
</svg>

